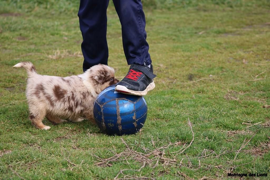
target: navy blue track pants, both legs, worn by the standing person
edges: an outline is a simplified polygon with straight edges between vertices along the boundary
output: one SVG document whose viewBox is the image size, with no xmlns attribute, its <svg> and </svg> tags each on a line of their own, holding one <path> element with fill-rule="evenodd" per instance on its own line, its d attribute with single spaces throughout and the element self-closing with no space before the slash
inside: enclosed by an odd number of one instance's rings
<svg viewBox="0 0 270 180">
<path fill-rule="evenodd" d="M 108 64 L 107 7 L 109 0 L 80 0 L 78 12 L 83 36 L 83 71 Z M 128 64 L 151 64 L 146 42 L 145 16 L 141 0 L 113 0 L 122 26 L 124 53 Z"/>
</svg>

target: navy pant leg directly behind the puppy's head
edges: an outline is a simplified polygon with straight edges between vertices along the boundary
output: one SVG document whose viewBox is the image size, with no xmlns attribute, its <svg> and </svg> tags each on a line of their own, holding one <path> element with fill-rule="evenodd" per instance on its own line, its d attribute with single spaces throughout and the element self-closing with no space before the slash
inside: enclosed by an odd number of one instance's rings
<svg viewBox="0 0 270 180">
<path fill-rule="evenodd" d="M 83 72 L 96 64 L 108 63 L 106 39 L 109 0 L 80 0 L 79 22 L 82 32 Z"/>
</svg>

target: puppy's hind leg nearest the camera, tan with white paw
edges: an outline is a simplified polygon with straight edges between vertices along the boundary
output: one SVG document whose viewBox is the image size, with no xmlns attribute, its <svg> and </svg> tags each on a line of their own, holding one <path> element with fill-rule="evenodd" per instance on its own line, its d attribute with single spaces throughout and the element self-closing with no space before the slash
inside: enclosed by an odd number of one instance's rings
<svg viewBox="0 0 270 180">
<path fill-rule="evenodd" d="M 45 115 L 46 115 L 46 110 L 31 110 L 29 109 L 30 114 L 29 114 L 29 119 L 32 123 L 32 125 L 34 125 L 35 127 L 39 128 L 39 129 L 44 129 L 44 130 L 48 130 L 50 129 L 50 126 L 45 126 L 42 123 L 42 120 L 44 119 Z"/>
</svg>

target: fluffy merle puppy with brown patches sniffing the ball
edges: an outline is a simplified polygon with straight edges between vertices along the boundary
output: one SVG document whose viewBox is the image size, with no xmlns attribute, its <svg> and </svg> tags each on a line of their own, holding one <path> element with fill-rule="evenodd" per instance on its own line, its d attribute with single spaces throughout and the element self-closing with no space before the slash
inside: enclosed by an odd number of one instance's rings
<svg viewBox="0 0 270 180">
<path fill-rule="evenodd" d="M 13 67 L 23 67 L 28 73 L 26 98 L 32 125 L 48 130 L 42 123 L 46 117 L 53 124 L 93 120 L 93 105 L 97 95 L 106 87 L 119 82 L 112 67 L 98 64 L 78 76 L 58 77 L 36 73 L 31 62 L 20 62 Z"/>
</svg>

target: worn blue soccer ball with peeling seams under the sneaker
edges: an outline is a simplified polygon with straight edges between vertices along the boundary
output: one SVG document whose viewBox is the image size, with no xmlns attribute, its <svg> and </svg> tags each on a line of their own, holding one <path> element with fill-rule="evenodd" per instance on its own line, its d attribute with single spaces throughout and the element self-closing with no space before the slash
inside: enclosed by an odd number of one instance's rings
<svg viewBox="0 0 270 180">
<path fill-rule="evenodd" d="M 144 125 L 147 104 L 143 96 L 118 93 L 112 85 L 104 89 L 94 103 L 94 118 L 108 135 L 134 134 Z"/>
</svg>

